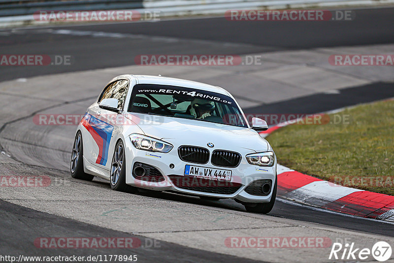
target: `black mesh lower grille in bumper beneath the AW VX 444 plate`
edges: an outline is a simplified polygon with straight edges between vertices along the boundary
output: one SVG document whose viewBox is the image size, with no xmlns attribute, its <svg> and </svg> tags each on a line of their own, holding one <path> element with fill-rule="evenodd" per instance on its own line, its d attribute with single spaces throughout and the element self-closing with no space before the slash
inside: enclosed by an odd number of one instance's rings
<svg viewBox="0 0 394 263">
<path fill-rule="evenodd" d="M 193 176 L 169 175 L 169 178 L 178 188 L 212 194 L 232 195 L 242 186 L 240 183 Z"/>
</svg>

